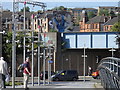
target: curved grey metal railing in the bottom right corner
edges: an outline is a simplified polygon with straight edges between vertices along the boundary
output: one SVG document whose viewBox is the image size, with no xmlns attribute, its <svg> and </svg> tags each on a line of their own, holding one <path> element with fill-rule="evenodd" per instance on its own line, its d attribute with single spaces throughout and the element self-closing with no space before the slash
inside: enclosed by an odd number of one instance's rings
<svg viewBox="0 0 120 90">
<path fill-rule="evenodd" d="M 103 58 L 98 68 L 102 86 L 107 90 L 120 90 L 120 59 Z"/>
</svg>

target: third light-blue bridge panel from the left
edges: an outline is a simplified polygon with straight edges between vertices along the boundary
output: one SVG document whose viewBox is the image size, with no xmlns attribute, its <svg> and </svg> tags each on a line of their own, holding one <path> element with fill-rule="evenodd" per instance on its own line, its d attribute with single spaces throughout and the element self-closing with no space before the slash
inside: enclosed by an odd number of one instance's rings
<svg viewBox="0 0 120 90">
<path fill-rule="evenodd" d="M 106 48 L 106 34 L 93 34 L 93 48 Z"/>
</svg>

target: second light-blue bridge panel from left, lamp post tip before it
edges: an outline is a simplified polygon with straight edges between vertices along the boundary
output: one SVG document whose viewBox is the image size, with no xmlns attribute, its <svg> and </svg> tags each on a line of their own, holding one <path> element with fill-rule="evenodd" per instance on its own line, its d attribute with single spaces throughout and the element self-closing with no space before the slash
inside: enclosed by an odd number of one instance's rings
<svg viewBox="0 0 120 90">
<path fill-rule="evenodd" d="M 84 44 L 87 48 L 91 48 L 91 35 L 78 34 L 77 35 L 77 48 L 83 48 Z"/>
</svg>

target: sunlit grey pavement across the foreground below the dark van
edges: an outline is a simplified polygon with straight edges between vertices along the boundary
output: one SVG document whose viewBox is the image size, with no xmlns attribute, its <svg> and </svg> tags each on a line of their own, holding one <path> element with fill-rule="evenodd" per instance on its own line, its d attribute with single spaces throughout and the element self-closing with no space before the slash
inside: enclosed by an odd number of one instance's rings
<svg viewBox="0 0 120 90">
<path fill-rule="evenodd" d="M 22 81 L 22 78 L 17 78 L 18 80 Z M 85 79 L 85 81 L 84 81 Z M 86 78 L 84 78 L 83 76 L 79 77 L 78 81 L 54 81 L 54 82 L 50 82 L 50 84 L 48 84 L 47 80 L 46 80 L 46 84 L 43 85 L 43 81 L 41 81 L 40 86 L 37 84 L 37 78 L 35 78 L 35 83 L 34 86 L 32 86 L 31 84 L 31 79 L 29 81 L 28 87 L 32 90 L 32 89 L 39 89 L 39 88 L 44 88 L 44 89 L 91 89 L 91 90 L 104 90 L 103 87 L 101 86 L 100 80 L 95 80 L 90 76 L 87 76 Z M 7 86 L 7 88 L 12 88 L 11 86 Z M 18 89 L 22 89 L 23 85 L 19 85 L 19 86 L 15 86 L 15 88 Z M 72 89 L 73 90 L 73 89 Z"/>
</svg>

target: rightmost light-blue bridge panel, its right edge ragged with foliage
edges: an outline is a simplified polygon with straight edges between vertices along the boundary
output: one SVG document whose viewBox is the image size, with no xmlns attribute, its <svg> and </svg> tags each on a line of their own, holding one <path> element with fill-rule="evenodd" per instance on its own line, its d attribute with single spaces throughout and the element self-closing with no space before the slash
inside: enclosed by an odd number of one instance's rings
<svg viewBox="0 0 120 90">
<path fill-rule="evenodd" d="M 116 37 L 115 34 L 109 34 L 108 35 L 108 48 L 118 48 L 118 45 L 116 45 Z"/>
</svg>

